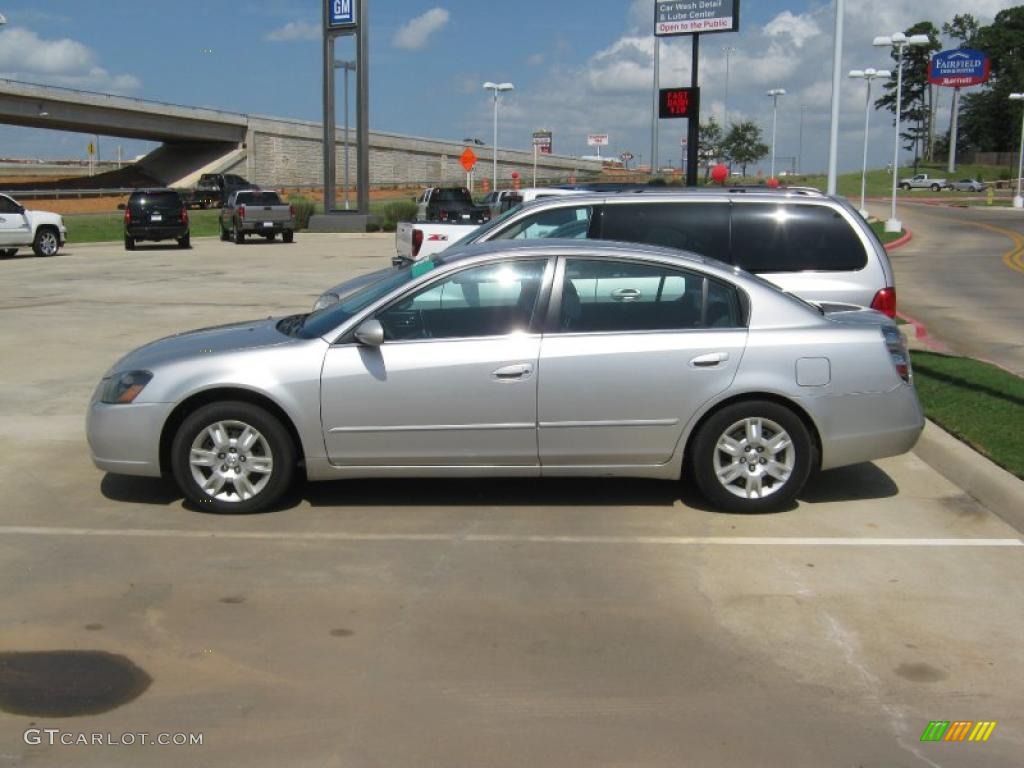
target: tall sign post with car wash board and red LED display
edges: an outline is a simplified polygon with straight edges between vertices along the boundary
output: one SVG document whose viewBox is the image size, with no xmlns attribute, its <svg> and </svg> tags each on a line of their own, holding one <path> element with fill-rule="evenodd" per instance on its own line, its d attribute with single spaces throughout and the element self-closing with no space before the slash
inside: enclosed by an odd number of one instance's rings
<svg viewBox="0 0 1024 768">
<path fill-rule="evenodd" d="M 700 153 L 700 35 L 717 32 L 739 31 L 739 0 L 654 0 L 654 87 L 659 91 L 659 110 L 654 115 L 651 128 L 652 168 L 657 157 L 657 121 L 665 117 L 685 117 L 686 130 L 686 184 L 697 185 L 697 163 Z M 681 99 L 674 95 L 678 88 L 658 88 L 657 42 L 663 37 L 688 35 L 692 37 L 689 96 Z M 685 103 L 685 108 L 683 104 Z M 667 114 L 668 113 L 668 114 Z"/>
</svg>

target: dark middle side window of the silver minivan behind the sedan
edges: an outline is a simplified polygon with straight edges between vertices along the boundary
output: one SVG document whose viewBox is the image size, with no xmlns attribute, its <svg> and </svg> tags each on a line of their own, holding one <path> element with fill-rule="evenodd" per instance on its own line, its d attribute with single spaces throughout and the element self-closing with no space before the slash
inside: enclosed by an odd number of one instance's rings
<svg viewBox="0 0 1024 768">
<path fill-rule="evenodd" d="M 728 203 L 629 203 L 604 207 L 603 240 L 679 248 L 728 261 Z"/>
</svg>

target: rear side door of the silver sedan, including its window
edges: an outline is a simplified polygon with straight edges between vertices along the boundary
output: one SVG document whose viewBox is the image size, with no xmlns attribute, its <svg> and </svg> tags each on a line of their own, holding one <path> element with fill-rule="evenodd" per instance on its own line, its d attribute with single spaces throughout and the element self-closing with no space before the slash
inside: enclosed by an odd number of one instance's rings
<svg viewBox="0 0 1024 768">
<path fill-rule="evenodd" d="M 707 286 L 706 286 L 707 282 Z M 732 382 L 746 343 L 732 286 L 696 271 L 567 259 L 541 344 L 542 467 L 655 465 Z"/>
</svg>

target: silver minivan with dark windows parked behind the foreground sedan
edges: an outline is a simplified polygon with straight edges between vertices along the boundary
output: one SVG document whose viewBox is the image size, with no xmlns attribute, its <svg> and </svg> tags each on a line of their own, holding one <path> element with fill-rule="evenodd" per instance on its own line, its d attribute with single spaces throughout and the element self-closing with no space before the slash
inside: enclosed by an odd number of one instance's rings
<svg viewBox="0 0 1024 768">
<path fill-rule="evenodd" d="M 417 228 L 409 231 L 415 236 Z M 437 233 L 446 241 L 420 236 L 410 242 L 399 225 L 393 263 L 429 258 L 455 243 L 548 238 L 649 243 L 735 264 L 808 301 L 896 313 L 885 247 L 846 201 L 813 189 L 646 189 L 549 198 L 463 229 L 461 240 L 458 231 Z M 325 291 L 318 303 L 330 303 L 336 293 Z"/>
</svg>

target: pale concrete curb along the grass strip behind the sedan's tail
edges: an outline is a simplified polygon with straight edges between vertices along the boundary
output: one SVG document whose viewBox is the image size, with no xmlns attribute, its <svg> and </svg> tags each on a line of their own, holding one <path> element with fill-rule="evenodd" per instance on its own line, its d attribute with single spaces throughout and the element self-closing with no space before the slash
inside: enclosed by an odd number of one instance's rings
<svg viewBox="0 0 1024 768">
<path fill-rule="evenodd" d="M 932 421 L 913 449 L 947 480 L 1024 532 L 1024 480 L 996 466 Z"/>
</svg>

